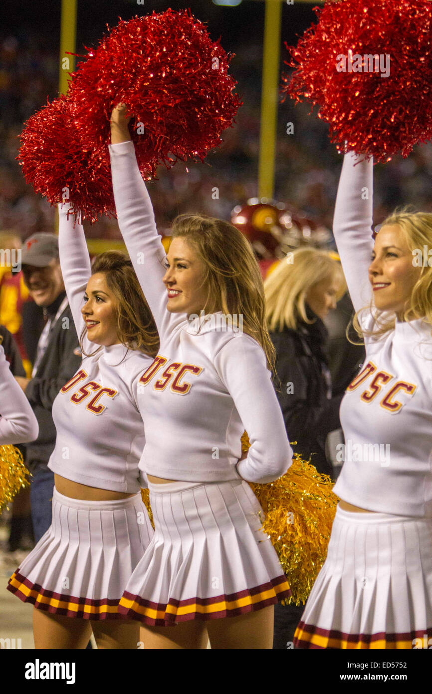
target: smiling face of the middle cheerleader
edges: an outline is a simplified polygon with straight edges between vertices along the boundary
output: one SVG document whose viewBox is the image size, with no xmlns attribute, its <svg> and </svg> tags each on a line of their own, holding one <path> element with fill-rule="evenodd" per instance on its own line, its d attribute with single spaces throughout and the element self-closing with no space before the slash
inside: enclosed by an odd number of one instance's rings
<svg viewBox="0 0 432 694">
<path fill-rule="evenodd" d="M 166 308 L 171 313 L 200 314 L 207 299 L 203 284 L 205 266 L 198 254 L 182 237 L 175 237 L 167 254 L 168 264 L 162 278 L 168 290 Z"/>
</svg>

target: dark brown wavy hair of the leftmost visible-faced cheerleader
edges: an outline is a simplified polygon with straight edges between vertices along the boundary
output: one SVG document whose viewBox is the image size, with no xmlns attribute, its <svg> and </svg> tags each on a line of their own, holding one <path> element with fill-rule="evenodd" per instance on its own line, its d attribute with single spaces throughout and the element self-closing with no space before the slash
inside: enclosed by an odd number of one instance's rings
<svg viewBox="0 0 432 694">
<path fill-rule="evenodd" d="M 132 262 L 121 251 L 106 251 L 94 258 L 92 275 L 98 272 L 105 275 L 107 286 L 118 302 L 116 327 L 121 343 L 130 350 L 138 350 L 155 357 L 159 350 L 159 333 Z M 80 347 L 83 354 L 89 357 L 95 355 L 102 347 L 91 355 L 85 353 L 83 337 L 86 332 L 84 328 L 80 335 Z"/>
</svg>

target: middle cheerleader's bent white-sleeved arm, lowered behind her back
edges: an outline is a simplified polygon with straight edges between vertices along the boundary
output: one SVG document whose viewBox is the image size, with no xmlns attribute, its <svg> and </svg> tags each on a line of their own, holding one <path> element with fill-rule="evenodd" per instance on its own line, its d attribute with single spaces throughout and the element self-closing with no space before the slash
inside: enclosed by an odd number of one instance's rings
<svg viewBox="0 0 432 694">
<path fill-rule="evenodd" d="M 263 350 L 252 337 L 239 335 L 219 350 L 214 366 L 250 440 L 248 456 L 237 463 L 239 475 L 261 484 L 277 480 L 291 466 L 293 450 Z"/>
</svg>

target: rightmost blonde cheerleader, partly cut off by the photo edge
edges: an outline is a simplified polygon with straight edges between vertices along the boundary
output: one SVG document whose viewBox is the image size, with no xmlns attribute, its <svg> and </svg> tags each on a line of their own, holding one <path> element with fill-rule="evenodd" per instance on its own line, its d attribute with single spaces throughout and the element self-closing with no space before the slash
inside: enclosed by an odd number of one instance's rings
<svg viewBox="0 0 432 694">
<path fill-rule="evenodd" d="M 418 648 L 432 636 L 431 269 L 413 257 L 432 214 L 395 212 L 374 242 L 371 225 L 372 161 L 349 153 L 334 236 L 366 357 L 340 407 L 340 502 L 298 648 Z"/>
</svg>

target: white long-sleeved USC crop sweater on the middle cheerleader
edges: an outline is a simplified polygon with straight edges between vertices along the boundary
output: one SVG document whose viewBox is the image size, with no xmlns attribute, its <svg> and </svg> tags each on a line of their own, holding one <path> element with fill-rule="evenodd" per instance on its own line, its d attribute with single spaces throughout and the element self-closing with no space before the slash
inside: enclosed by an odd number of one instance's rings
<svg viewBox="0 0 432 694">
<path fill-rule="evenodd" d="M 146 446 L 141 470 L 167 480 L 270 482 L 291 464 L 284 419 L 261 346 L 218 330 L 221 312 L 200 328 L 166 309 L 166 255 L 132 142 L 110 145 L 114 198 L 130 259 L 153 312 L 161 346 L 144 384 Z M 219 319 L 218 319 L 219 316 Z M 221 323 L 219 323 L 220 327 Z M 241 457 L 241 434 L 250 437 Z"/>
</svg>

